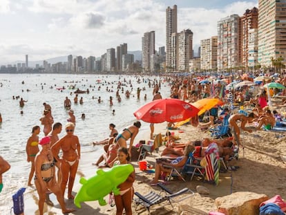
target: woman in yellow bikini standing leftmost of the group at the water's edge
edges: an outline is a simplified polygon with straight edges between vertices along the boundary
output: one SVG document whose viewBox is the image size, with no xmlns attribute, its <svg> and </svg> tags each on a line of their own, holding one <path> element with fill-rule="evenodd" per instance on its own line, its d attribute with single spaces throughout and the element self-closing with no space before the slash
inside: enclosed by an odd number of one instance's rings
<svg viewBox="0 0 286 215">
<path fill-rule="evenodd" d="M 28 179 L 28 186 L 32 186 L 32 176 L 35 173 L 35 156 L 39 152 L 39 133 L 40 133 L 40 127 L 35 126 L 32 127 L 32 135 L 30 138 L 28 138 L 27 144 L 26 144 L 26 153 L 27 153 L 27 161 L 31 162 L 31 169 Z"/>
</svg>

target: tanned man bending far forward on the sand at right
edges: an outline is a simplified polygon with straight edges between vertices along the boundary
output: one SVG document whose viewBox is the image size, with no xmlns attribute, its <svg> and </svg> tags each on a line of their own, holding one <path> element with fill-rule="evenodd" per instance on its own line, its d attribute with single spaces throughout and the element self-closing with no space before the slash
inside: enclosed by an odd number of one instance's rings
<svg viewBox="0 0 286 215">
<path fill-rule="evenodd" d="M 248 116 L 245 116 L 244 114 L 233 114 L 229 117 L 229 127 L 233 127 L 233 132 L 236 133 L 238 140 L 240 140 L 240 128 L 244 131 L 248 131 L 249 133 L 252 132 L 251 129 L 245 128 L 245 125 L 247 122 L 251 123 L 254 121 L 254 113 L 249 113 Z M 237 121 L 240 121 L 240 128 L 238 127 L 238 124 L 236 124 Z M 233 140 L 233 143 L 235 143 L 236 140 Z"/>
</svg>

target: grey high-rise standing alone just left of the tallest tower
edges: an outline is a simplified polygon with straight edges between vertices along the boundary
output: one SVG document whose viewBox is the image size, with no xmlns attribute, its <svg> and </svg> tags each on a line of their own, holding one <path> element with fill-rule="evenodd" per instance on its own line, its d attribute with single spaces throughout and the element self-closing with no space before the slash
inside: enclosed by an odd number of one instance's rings
<svg viewBox="0 0 286 215">
<path fill-rule="evenodd" d="M 142 37 L 142 68 L 150 71 L 150 57 L 155 54 L 155 31 L 145 32 Z"/>
</svg>

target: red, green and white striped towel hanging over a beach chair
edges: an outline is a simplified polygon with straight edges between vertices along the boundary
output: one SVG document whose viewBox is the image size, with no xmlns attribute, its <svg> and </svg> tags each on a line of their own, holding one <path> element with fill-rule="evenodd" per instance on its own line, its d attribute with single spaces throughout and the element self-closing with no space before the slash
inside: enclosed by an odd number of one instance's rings
<svg viewBox="0 0 286 215">
<path fill-rule="evenodd" d="M 218 153 L 218 145 L 214 142 L 209 144 L 209 147 L 207 147 L 204 153 L 207 161 L 207 167 L 205 167 L 206 180 L 218 185 L 218 180 L 220 178 L 220 155 Z"/>
</svg>

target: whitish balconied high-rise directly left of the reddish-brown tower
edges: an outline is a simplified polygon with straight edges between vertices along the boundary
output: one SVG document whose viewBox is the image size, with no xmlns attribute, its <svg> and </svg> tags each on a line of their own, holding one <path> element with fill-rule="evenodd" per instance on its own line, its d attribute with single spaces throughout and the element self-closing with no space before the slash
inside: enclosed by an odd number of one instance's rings
<svg viewBox="0 0 286 215">
<path fill-rule="evenodd" d="M 239 66 L 240 17 L 231 15 L 218 21 L 218 71 Z"/>
</svg>

